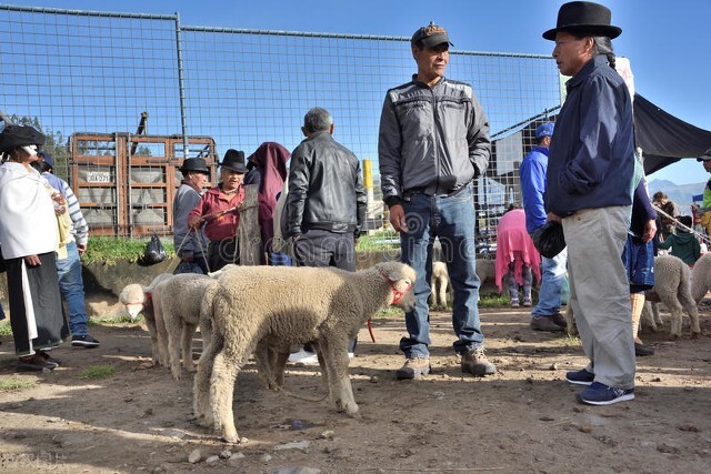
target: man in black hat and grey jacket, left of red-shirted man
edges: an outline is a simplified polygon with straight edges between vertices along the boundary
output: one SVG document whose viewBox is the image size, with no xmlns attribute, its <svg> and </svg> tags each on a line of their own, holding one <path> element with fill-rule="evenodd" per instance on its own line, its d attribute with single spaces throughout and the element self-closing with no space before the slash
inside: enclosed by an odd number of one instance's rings
<svg viewBox="0 0 711 474">
<path fill-rule="evenodd" d="M 173 271 L 178 273 L 208 273 L 208 240 L 201 229 L 188 228 L 188 215 L 192 211 L 210 178 L 210 170 L 202 158 L 183 160 L 178 169 L 182 173 L 180 186 L 173 199 L 173 243 L 180 263 Z"/>
</svg>

